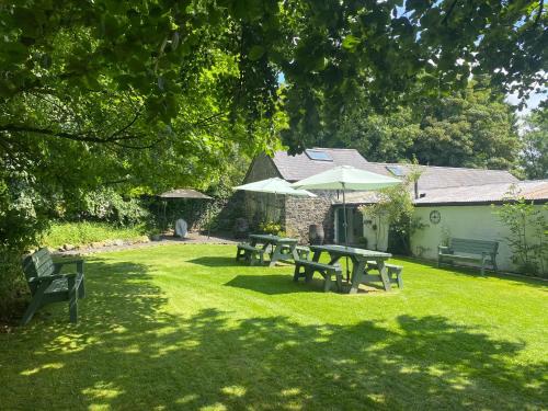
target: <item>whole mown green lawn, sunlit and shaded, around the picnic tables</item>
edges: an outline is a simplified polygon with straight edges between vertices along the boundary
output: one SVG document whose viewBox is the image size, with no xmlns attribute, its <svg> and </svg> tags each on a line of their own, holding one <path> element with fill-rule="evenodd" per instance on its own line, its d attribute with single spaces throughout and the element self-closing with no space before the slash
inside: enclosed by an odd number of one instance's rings
<svg viewBox="0 0 548 411">
<path fill-rule="evenodd" d="M 0 334 L 0 409 L 546 409 L 545 283 L 404 265 L 404 289 L 324 294 L 235 247 L 87 262 L 64 304 Z"/>
</svg>

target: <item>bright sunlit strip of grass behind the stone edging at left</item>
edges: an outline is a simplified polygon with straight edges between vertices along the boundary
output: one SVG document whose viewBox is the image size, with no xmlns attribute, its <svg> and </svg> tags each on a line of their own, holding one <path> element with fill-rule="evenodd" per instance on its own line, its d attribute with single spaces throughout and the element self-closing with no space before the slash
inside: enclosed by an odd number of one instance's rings
<svg viewBox="0 0 548 411">
<path fill-rule="evenodd" d="M 142 227 L 138 226 L 119 228 L 105 222 L 54 222 L 42 243 L 44 247 L 52 248 L 58 248 L 66 243 L 83 246 L 94 241 L 129 240 L 144 233 Z"/>
</svg>

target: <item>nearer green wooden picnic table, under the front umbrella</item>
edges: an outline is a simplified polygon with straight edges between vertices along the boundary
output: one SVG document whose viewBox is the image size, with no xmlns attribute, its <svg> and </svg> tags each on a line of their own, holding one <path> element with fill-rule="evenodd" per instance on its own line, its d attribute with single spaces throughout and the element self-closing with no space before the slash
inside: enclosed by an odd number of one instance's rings
<svg viewBox="0 0 548 411">
<path fill-rule="evenodd" d="M 331 258 L 329 264 L 331 265 L 335 264 L 343 256 L 347 256 L 352 261 L 352 277 L 349 294 L 356 294 L 359 284 L 366 281 L 378 281 L 379 277 L 383 282 L 385 290 L 389 292 L 391 289 L 390 281 L 385 266 L 385 261 L 392 256 L 389 253 L 338 244 L 310 246 L 310 250 L 313 252 L 312 261 L 316 262 L 320 260 L 320 255 L 323 252 L 329 253 Z M 367 261 L 376 262 L 379 275 L 372 275 L 365 272 Z"/>
</svg>

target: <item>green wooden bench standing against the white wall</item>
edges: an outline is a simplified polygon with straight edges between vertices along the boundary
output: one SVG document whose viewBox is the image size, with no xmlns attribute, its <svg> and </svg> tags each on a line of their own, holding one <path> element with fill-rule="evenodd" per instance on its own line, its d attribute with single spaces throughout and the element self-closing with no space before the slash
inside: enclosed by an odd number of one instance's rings
<svg viewBox="0 0 548 411">
<path fill-rule="evenodd" d="M 438 246 L 437 250 L 437 266 L 446 261 L 458 260 L 481 263 L 481 275 L 486 274 L 486 265 L 496 271 L 496 241 L 452 238 L 449 246 Z"/>
</svg>

